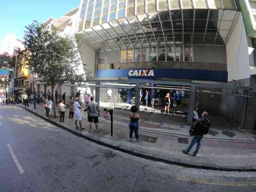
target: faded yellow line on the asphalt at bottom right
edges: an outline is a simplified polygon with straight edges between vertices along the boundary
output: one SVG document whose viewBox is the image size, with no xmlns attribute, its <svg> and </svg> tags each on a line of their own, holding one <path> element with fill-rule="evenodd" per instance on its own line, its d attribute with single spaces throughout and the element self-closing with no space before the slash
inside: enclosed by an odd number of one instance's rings
<svg viewBox="0 0 256 192">
<path fill-rule="evenodd" d="M 206 185 L 256 186 L 255 182 L 206 181 L 203 179 L 195 179 L 195 178 L 189 178 L 189 177 L 176 177 L 175 179 L 181 180 L 181 181 L 193 182 L 193 183 L 206 184 Z"/>
</svg>

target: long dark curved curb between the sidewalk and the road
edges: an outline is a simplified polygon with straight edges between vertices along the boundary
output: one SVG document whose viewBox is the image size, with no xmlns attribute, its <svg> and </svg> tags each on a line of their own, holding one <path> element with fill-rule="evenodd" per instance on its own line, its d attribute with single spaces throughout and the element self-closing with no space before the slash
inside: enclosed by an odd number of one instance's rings
<svg viewBox="0 0 256 192">
<path fill-rule="evenodd" d="M 97 143 L 99 145 L 102 145 L 102 146 L 105 146 L 105 147 L 108 147 L 108 148 L 111 148 L 111 149 L 114 149 L 114 150 L 117 150 L 117 151 L 125 152 L 125 153 L 128 153 L 130 155 L 134 155 L 134 156 L 141 157 L 141 158 L 144 158 L 144 159 L 153 160 L 153 161 L 157 161 L 157 162 L 163 162 L 163 163 L 167 163 L 167 164 L 174 164 L 174 165 L 187 167 L 187 168 L 195 168 L 195 169 L 206 169 L 206 170 L 228 171 L 228 172 L 231 172 L 231 171 L 256 172 L 256 166 L 246 166 L 246 167 L 234 167 L 234 166 L 228 166 L 227 167 L 227 166 L 225 166 L 224 167 L 224 166 L 217 166 L 215 164 L 210 164 L 210 163 L 202 163 L 202 164 L 198 163 L 198 164 L 196 164 L 196 162 L 193 162 L 194 164 L 192 164 L 190 161 L 182 161 L 182 160 L 176 159 L 176 158 L 167 159 L 163 155 L 158 155 L 158 154 L 152 155 L 152 153 L 146 154 L 146 152 L 143 154 L 143 153 L 139 152 L 138 150 L 134 150 L 132 148 L 122 146 L 120 144 L 115 145 L 114 143 L 111 143 L 111 142 L 106 143 L 106 141 L 103 142 L 102 140 L 99 141 L 96 138 L 94 139 L 94 138 L 82 135 L 82 134 L 76 132 L 75 130 L 68 129 L 63 125 L 60 125 L 60 124 L 52 121 L 51 119 L 47 119 L 46 117 L 34 112 L 33 110 L 31 110 L 29 108 L 26 108 L 26 107 L 23 107 L 23 106 L 18 106 L 18 105 L 13 105 L 13 106 L 24 108 L 27 111 L 33 113 L 34 115 L 36 115 L 36 116 L 54 124 L 54 125 L 62 128 L 64 130 L 67 130 L 68 132 L 73 133 L 76 136 L 83 137 L 88 141 L 92 141 L 92 142 Z"/>
</svg>

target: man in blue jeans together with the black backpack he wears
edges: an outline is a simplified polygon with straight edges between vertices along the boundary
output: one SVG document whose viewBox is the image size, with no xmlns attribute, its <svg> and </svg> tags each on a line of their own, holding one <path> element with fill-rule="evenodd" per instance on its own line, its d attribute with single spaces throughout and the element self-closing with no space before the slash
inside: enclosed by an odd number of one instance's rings
<svg viewBox="0 0 256 192">
<path fill-rule="evenodd" d="M 197 143 L 196 150 L 193 152 L 193 156 L 195 157 L 197 155 L 202 144 L 202 139 L 204 138 L 204 135 L 208 133 L 210 127 L 210 121 L 207 119 L 207 117 L 208 113 L 204 111 L 202 114 L 202 118 L 196 120 L 195 124 L 192 127 L 192 141 L 190 142 L 187 149 L 182 150 L 184 154 L 188 154 L 194 144 Z"/>
</svg>

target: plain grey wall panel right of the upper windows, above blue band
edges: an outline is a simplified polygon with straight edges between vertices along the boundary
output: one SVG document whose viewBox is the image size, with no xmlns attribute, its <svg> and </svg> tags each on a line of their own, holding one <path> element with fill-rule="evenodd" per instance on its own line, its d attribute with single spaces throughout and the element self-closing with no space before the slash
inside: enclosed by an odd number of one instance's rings
<svg viewBox="0 0 256 192">
<path fill-rule="evenodd" d="M 193 45 L 194 62 L 227 63 L 225 46 Z"/>
</svg>

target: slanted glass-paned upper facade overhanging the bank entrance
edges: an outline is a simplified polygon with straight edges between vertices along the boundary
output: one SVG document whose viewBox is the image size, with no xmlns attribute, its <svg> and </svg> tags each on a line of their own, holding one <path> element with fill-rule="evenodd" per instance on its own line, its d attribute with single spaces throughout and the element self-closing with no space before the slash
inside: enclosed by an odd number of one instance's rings
<svg viewBox="0 0 256 192">
<path fill-rule="evenodd" d="M 84 0 L 77 34 L 95 51 L 223 46 L 238 11 L 233 0 Z"/>
</svg>

